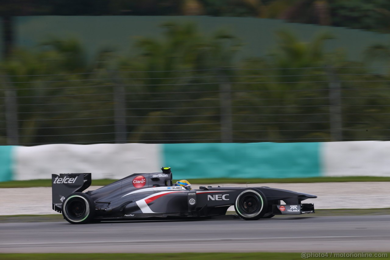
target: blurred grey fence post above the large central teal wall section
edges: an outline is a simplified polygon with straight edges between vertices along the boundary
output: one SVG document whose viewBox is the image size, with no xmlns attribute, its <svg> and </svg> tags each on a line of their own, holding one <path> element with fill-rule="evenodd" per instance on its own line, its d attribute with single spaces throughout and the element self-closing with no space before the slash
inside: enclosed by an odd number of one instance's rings
<svg viewBox="0 0 390 260">
<path fill-rule="evenodd" d="M 231 100 L 231 84 L 223 73 L 220 72 L 220 111 L 221 111 L 221 142 L 232 142 L 233 127 L 232 127 L 232 100 Z"/>
</svg>

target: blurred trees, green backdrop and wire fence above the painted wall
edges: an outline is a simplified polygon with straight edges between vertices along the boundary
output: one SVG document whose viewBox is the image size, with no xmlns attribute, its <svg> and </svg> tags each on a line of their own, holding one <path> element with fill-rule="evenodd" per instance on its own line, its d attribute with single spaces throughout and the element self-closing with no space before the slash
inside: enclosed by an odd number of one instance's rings
<svg viewBox="0 0 390 260">
<path fill-rule="evenodd" d="M 389 10 L 4 0 L 0 144 L 389 140 Z"/>
</svg>

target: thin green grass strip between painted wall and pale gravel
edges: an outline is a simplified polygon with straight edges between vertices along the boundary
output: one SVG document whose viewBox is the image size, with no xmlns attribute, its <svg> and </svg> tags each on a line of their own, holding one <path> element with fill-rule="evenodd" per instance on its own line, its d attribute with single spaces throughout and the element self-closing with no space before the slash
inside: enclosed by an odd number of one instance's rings
<svg viewBox="0 0 390 260">
<path fill-rule="evenodd" d="M 101 179 L 92 180 L 94 186 L 104 186 L 116 180 Z M 346 177 L 310 177 L 310 178 L 212 178 L 212 179 L 189 179 L 191 183 L 221 184 L 221 183 L 314 183 L 314 182 L 390 182 L 390 177 L 373 176 L 346 176 Z M 176 182 L 176 180 L 174 181 Z M 0 188 L 28 188 L 28 187 L 51 187 L 51 180 L 21 180 L 0 182 Z"/>
</svg>

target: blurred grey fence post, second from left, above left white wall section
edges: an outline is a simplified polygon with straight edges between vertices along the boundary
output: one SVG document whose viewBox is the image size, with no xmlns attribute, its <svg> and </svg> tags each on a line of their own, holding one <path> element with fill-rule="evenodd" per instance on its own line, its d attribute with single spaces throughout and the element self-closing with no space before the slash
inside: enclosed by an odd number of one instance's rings
<svg viewBox="0 0 390 260">
<path fill-rule="evenodd" d="M 113 74 L 112 74 L 113 75 Z M 113 100 L 114 100 L 114 124 L 115 143 L 126 143 L 126 91 L 124 85 L 114 75 Z"/>
</svg>

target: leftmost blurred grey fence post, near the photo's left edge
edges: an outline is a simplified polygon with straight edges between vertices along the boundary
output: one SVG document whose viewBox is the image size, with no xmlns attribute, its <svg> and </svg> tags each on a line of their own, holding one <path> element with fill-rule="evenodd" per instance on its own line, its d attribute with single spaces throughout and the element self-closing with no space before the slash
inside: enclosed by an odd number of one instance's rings
<svg viewBox="0 0 390 260">
<path fill-rule="evenodd" d="M 19 144 L 18 107 L 15 89 L 5 90 L 5 121 L 7 128 L 7 144 Z"/>
</svg>

